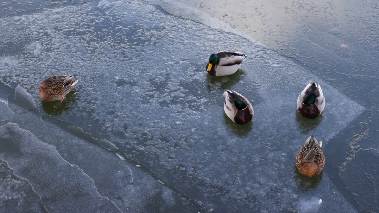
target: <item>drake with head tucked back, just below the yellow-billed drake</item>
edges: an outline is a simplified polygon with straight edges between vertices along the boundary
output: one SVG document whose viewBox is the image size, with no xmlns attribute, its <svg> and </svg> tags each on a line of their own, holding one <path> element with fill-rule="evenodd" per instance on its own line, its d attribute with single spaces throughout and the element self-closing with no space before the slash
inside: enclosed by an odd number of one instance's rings
<svg viewBox="0 0 379 213">
<path fill-rule="evenodd" d="M 254 116 L 254 110 L 249 100 L 230 89 L 224 91 L 224 111 L 236 124 L 246 124 Z"/>
</svg>

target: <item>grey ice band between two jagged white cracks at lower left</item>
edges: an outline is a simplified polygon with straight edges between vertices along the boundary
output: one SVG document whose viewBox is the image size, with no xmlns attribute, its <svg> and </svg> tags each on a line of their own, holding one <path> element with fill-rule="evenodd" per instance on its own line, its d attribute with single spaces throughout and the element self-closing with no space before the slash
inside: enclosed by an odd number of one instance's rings
<svg viewBox="0 0 379 213">
<path fill-rule="evenodd" d="M 48 212 L 119 212 L 114 203 L 99 196 L 93 180 L 81 169 L 17 124 L 0 126 L 0 159 L 31 183 Z M 81 197 L 86 197 L 86 202 Z"/>
</svg>

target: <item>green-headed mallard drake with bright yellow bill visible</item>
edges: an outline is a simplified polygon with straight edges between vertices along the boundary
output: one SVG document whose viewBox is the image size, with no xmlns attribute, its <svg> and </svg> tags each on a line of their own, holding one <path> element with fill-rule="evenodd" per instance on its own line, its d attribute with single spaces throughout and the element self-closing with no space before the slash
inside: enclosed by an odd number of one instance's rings
<svg viewBox="0 0 379 213">
<path fill-rule="evenodd" d="M 207 71 L 212 76 L 232 75 L 241 67 L 247 56 L 238 52 L 221 51 L 209 57 Z"/>
</svg>

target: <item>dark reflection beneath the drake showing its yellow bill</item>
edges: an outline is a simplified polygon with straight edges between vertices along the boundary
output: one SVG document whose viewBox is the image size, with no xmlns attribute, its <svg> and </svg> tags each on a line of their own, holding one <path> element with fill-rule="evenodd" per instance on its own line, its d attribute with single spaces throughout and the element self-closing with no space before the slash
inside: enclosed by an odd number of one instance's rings
<svg viewBox="0 0 379 213">
<path fill-rule="evenodd" d="M 230 89 L 235 83 L 242 80 L 243 76 L 245 75 L 245 70 L 238 69 L 237 72 L 235 72 L 232 75 L 226 75 L 226 76 L 219 76 L 214 77 L 209 74 L 207 74 L 207 81 L 208 81 L 208 91 L 215 91 L 215 90 L 222 90 Z"/>
</svg>

